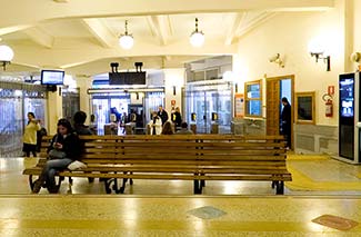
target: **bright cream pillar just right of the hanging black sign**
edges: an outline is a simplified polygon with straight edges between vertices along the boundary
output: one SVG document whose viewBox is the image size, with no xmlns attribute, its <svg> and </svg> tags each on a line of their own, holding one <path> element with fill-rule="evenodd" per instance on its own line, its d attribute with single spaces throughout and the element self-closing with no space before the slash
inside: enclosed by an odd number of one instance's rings
<svg viewBox="0 0 361 237">
<path fill-rule="evenodd" d="M 164 86 L 166 86 L 166 111 L 169 116 L 172 110 L 171 100 L 176 100 L 176 106 L 182 108 L 181 91 L 184 85 L 184 68 L 164 69 Z M 173 95 L 173 86 L 176 86 L 176 96 Z"/>
</svg>

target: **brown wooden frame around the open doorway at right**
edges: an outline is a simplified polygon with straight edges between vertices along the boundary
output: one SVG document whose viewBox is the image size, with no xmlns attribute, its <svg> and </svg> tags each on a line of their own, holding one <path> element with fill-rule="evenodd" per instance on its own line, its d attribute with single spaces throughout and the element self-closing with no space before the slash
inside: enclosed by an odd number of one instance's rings
<svg viewBox="0 0 361 237">
<path fill-rule="evenodd" d="M 282 80 L 291 80 L 291 107 L 292 107 L 292 110 L 291 110 L 291 149 L 294 149 L 294 102 L 295 102 L 295 97 L 294 97 L 294 80 L 295 80 L 295 77 L 294 75 L 285 75 L 285 76 L 278 76 L 278 77 L 270 77 L 270 78 L 265 78 L 265 108 L 270 108 L 270 103 L 269 103 L 269 100 L 268 100 L 268 96 L 267 96 L 267 85 L 268 85 L 268 81 L 279 81 L 281 82 Z M 280 83 L 279 83 L 280 85 Z M 280 95 L 279 95 L 280 96 Z M 269 118 L 265 118 L 265 126 L 269 126 Z M 278 120 L 280 120 L 280 115 L 278 115 Z M 267 127 L 265 127 L 265 130 L 267 130 Z"/>
</svg>

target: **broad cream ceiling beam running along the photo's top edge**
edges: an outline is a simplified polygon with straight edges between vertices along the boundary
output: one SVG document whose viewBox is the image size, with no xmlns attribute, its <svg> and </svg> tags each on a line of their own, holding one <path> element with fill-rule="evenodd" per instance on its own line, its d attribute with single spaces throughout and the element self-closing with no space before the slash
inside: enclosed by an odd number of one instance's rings
<svg viewBox="0 0 361 237">
<path fill-rule="evenodd" d="M 77 0 L 59 4 L 49 0 L 2 1 L 0 29 L 13 26 L 34 24 L 46 20 L 64 18 L 104 18 L 121 16 L 160 16 L 179 13 L 240 12 L 248 10 L 327 10 L 334 8 L 335 0 Z M 116 6 L 121 6 L 116 7 Z M 38 12 L 38 13 L 34 13 Z M 41 13 L 40 13 L 41 12 Z M 17 16 L 16 18 L 13 16 Z"/>
</svg>

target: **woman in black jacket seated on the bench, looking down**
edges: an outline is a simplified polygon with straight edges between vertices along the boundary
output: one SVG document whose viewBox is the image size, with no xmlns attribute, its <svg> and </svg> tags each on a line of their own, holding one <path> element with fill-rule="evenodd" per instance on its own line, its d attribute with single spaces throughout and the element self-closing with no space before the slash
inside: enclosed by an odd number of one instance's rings
<svg viewBox="0 0 361 237">
<path fill-rule="evenodd" d="M 52 138 L 48 148 L 50 159 L 44 165 L 39 179 L 34 182 L 32 192 L 38 194 L 43 185 L 47 186 L 50 194 L 58 192 L 56 172 L 66 169 L 79 157 L 80 152 L 79 138 L 73 132 L 71 124 L 67 119 L 60 119 L 58 121 L 58 134 Z M 58 155 L 54 156 L 54 154 Z"/>
</svg>

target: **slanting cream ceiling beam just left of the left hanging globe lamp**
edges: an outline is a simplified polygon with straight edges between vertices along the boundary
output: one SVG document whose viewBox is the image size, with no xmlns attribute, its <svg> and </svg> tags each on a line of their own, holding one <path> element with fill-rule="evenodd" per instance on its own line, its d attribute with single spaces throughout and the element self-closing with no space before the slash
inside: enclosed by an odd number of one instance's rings
<svg viewBox="0 0 361 237">
<path fill-rule="evenodd" d="M 82 19 L 82 23 L 102 47 L 112 48 L 117 43 L 118 38 L 110 31 L 102 20 Z"/>
</svg>

